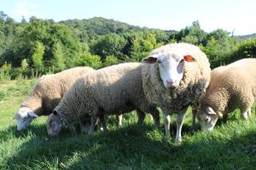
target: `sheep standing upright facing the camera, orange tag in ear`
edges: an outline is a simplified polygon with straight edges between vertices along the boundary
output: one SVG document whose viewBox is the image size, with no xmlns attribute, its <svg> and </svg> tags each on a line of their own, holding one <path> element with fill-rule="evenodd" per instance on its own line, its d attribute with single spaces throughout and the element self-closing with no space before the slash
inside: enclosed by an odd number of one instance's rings
<svg viewBox="0 0 256 170">
<path fill-rule="evenodd" d="M 163 111 L 166 136 L 170 136 L 171 112 L 178 113 L 175 141 L 181 144 L 185 112 L 200 102 L 210 81 L 207 56 L 189 43 L 171 43 L 154 49 L 143 63 L 144 94 Z"/>
</svg>

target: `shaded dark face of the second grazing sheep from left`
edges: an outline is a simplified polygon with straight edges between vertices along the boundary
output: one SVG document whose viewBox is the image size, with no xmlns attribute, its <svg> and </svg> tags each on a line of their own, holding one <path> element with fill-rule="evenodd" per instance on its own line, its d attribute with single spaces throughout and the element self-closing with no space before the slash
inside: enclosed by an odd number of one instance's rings
<svg viewBox="0 0 256 170">
<path fill-rule="evenodd" d="M 63 123 L 58 118 L 58 116 L 54 114 L 50 114 L 47 120 L 47 133 L 50 136 L 57 136 L 61 132 L 61 128 L 63 127 Z"/>
</svg>

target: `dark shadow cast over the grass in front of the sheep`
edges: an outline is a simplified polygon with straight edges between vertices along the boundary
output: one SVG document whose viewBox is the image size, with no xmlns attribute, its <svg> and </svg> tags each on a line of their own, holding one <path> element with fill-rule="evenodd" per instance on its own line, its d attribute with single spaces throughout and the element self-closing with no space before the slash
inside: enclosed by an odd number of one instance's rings
<svg viewBox="0 0 256 170">
<path fill-rule="evenodd" d="M 9 127 L 8 133 L 25 139 L 9 169 L 250 169 L 256 167 L 256 131 L 231 138 L 209 133 L 189 133 L 181 146 L 163 136 L 164 127 L 131 124 L 111 127 L 106 133 L 71 136 L 67 130 L 58 138 L 48 137 L 45 125 L 32 126 L 23 133 Z M 6 133 L 6 132 L 5 132 Z M 9 135 L 1 134 L 7 140 Z M 1 139 L 2 140 L 2 139 Z"/>
</svg>

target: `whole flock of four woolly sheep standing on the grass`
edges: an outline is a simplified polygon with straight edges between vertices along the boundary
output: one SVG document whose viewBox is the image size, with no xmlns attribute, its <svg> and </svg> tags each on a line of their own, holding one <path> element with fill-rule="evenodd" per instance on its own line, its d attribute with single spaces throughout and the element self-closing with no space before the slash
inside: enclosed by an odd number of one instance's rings
<svg viewBox="0 0 256 170">
<path fill-rule="evenodd" d="M 47 132 L 57 136 L 63 127 L 76 133 L 94 133 L 96 126 L 108 129 L 108 115 L 118 125 L 122 114 L 137 111 L 138 123 L 145 114 L 160 126 L 160 107 L 166 136 L 170 136 L 172 113 L 177 113 L 176 143 L 181 144 L 182 126 L 189 105 L 201 122 L 212 130 L 218 117 L 236 108 L 247 119 L 256 97 L 256 59 L 241 59 L 211 71 L 206 54 L 188 43 L 172 43 L 154 49 L 143 63 L 124 63 L 99 70 L 76 67 L 38 80 L 32 93 L 15 113 L 17 129 L 25 129 L 34 118 L 49 115 Z"/>
</svg>

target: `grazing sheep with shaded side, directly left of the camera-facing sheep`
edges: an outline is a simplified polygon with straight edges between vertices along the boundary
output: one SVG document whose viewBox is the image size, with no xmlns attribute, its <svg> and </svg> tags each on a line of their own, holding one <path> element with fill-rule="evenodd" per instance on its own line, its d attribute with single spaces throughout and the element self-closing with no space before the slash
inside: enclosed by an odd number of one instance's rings
<svg viewBox="0 0 256 170">
<path fill-rule="evenodd" d="M 104 116 L 133 110 L 150 112 L 154 125 L 159 127 L 159 111 L 155 105 L 148 104 L 143 93 L 142 66 L 140 63 L 112 65 L 79 78 L 49 116 L 48 134 L 57 136 L 64 125 L 70 127 L 82 116 L 92 119 L 90 133 L 96 117 L 100 117 L 103 129 L 106 129 Z M 139 117 L 138 122 L 143 122 L 143 118 Z"/>
</svg>

